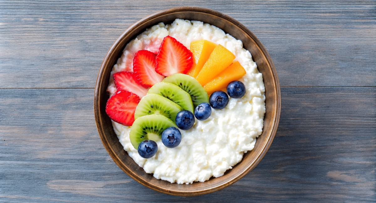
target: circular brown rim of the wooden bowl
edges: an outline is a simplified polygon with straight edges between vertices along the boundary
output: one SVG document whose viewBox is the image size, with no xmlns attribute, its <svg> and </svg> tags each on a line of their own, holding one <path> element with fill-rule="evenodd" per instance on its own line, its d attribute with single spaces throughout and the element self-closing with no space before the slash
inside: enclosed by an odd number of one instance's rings
<svg viewBox="0 0 376 203">
<path fill-rule="evenodd" d="M 199 13 L 214 15 L 214 16 L 217 16 L 219 18 L 222 18 L 223 20 L 225 20 L 226 22 L 228 22 L 230 24 L 237 26 L 238 28 L 241 29 L 241 31 L 243 31 L 243 33 L 249 35 L 251 37 L 251 39 L 253 40 L 253 42 L 257 45 L 257 48 L 259 49 L 259 51 L 262 52 L 262 54 L 264 55 L 264 57 L 267 61 L 267 65 L 269 66 L 269 70 L 270 70 L 271 75 L 273 77 L 274 91 L 276 92 L 276 101 L 274 101 L 274 104 L 273 104 L 273 105 L 276 106 L 276 112 L 274 113 L 273 118 L 272 118 L 272 121 L 273 121 L 273 122 L 271 122 L 272 127 L 271 127 L 271 130 L 270 130 L 270 133 L 267 134 L 268 139 L 267 139 L 267 142 L 265 143 L 264 149 L 258 154 L 257 158 L 255 158 L 255 160 L 252 163 L 250 163 L 248 165 L 248 167 L 243 172 L 241 172 L 238 176 L 230 179 L 229 181 L 227 181 L 223 184 L 217 185 L 216 187 L 206 188 L 204 190 L 199 190 L 199 191 L 196 191 L 196 192 L 174 191 L 174 190 L 171 190 L 171 189 L 165 189 L 165 188 L 159 187 L 158 185 L 155 185 L 155 184 L 150 184 L 149 182 L 146 182 L 144 180 L 140 180 L 138 175 L 136 175 L 132 170 L 130 170 L 120 160 L 120 158 L 117 156 L 117 154 L 113 151 L 113 149 L 109 145 L 109 142 L 105 137 L 105 133 L 104 133 L 104 130 L 103 130 L 103 123 L 102 123 L 102 120 L 100 119 L 100 112 L 99 112 L 100 111 L 99 99 L 100 99 L 100 89 L 101 89 L 100 87 L 101 87 L 101 85 L 103 85 L 103 84 L 101 84 L 101 81 L 102 81 L 102 76 L 103 76 L 103 73 L 104 73 L 104 70 L 105 70 L 106 61 L 109 60 L 109 58 L 111 57 L 111 55 L 114 52 L 115 47 L 118 45 L 118 43 L 121 41 L 121 39 L 123 39 L 125 36 L 131 34 L 136 27 L 139 27 L 140 25 L 145 24 L 146 22 L 151 21 L 154 18 L 164 16 L 164 15 L 169 15 L 169 14 L 172 14 L 172 13 L 178 13 L 178 12 L 196 12 L 196 13 L 199 12 Z M 237 182 L 239 179 L 243 178 L 247 173 L 249 173 L 251 170 L 253 170 L 259 164 L 261 159 L 264 157 L 264 155 L 268 151 L 271 143 L 273 142 L 273 139 L 274 139 L 274 136 L 276 134 L 278 124 L 279 124 L 280 105 L 281 105 L 280 104 L 280 87 L 279 87 L 279 80 L 278 80 L 278 77 L 277 77 L 276 69 L 274 67 L 274 64 L 273 64 L 268 52 L 266 51 L 266 49 L 262 45 L 262 43 L 257 39 L 255 34 L 253 34 L 243 24 L 241 24 L 240 22 L 231 18 L 228 15 L 224 15 L 223 13 L 220 13 L 216 10 L 207 9 L 207 8 L 203 8 L 203 7 L 196 7 L 196 6 L 180 6 L 180 7 L 173 7 L 173 8 L 170 8 L 170 9 L 161 10 L 159 12 L 153 13 L 152 15 L 146 16 L 145 18 L 135 22 L 129 28 L 127 28 L 123 32 L 123 34 L 121 34 L 115 40 L 115 42 L 112 44 L 111 48 L 109 48 L 109 51 L 107 52 L 105 58 L 103 59 L 102 65 L 100 67 L 100 70 L 99 70 L 99 73 L 98 73 L 98 76 L 97 76 L 96 87 L 95 87 L 95 90 L 94 90 L 94 116 L 95 116 L 97 130 L 98 130 L 100 139 L 102 141 L 102 144 L 105 147 L 108 154 L 110 155 L 110 157 L 112 158 L 112 160 L 114 160 L 114 162 L 117 164 L 117 166 L 121 170 L 123 170 L 128 176 L 130 176 L 131 178 L 133 178 L 135 181 L 139 182 L 140 184 L 142 184 L 142 185 L 144 185 L 144 186 L 146 186 L 146 187 L 148 187 L 152 190 L 158 191 L 160 193 L 165 193 L 165 194 L 170 194 L 170 195 L 175 195 L 175 196 L 197 196 L 197 195 L 212 193 L 212 192 L 221 190 L 221 189 Z M 208 180 L 208 181 L 210 181 L 210 180 Z"/>
</svg>

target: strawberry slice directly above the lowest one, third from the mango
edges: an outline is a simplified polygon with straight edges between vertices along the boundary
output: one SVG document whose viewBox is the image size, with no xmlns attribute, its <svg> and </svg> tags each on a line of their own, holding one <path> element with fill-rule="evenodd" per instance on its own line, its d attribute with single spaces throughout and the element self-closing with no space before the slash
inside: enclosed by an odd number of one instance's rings
<svg viewBox="0 0 376 203">
<path fill-rule="evenodd" d="M 135 73 L 121 71 L 114 73 L 114 81 L 116 86 L 116 91 L 126 90 L 133 94 L 137 94 L 140 98 L 144 97 L 149 90 L 141 85 Z"/>
</svg>

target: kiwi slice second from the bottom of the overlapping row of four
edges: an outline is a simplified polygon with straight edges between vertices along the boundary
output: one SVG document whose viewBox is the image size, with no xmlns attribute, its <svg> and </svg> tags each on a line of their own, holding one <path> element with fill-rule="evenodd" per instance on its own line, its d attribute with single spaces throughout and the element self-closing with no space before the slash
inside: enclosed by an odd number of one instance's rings
<svg viewBox="0 0 376 203">
<path fill-rule="evenodd" d="M 181 110 L 182 107 L 159 94 L 148 94 L 137 104 L 135 119 L 144 115 L 159 114 L 175 121 L 176 114 Z"/>
</svg>

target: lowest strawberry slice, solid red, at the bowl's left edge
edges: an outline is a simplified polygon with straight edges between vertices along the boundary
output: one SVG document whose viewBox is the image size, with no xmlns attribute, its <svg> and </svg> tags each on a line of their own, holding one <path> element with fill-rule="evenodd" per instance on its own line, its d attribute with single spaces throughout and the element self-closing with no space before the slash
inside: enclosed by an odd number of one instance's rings
<svg viewBox="0 0 376 203">
<path fill-rule="evenodd" d="M 131 126 L 140 98 L 129 91 L 117 91 L 106 103 L 106 113 L 115 122 Z"/>
</svg>

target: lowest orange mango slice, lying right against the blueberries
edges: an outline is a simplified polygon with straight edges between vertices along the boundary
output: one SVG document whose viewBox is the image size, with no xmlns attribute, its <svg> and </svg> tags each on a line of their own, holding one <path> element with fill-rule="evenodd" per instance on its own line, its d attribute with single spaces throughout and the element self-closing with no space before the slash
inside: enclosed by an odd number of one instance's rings
<svg viewBox="0 0 376 203">
<path fill-rule="evenodd" d="M 204 89 L 206 90 L 208 95 L 210 95 L 215 91 L 226 88 L 230 82 L 236 81 L 242 78 L 244 75 L 246 75 L 246 70 L 244 70 L 243 66 L 241 66 L 237 61 L 224 69 L 223 72 L 221 72 L 215 79 L 208 82 L 204 86 Z"/>
</svg>

